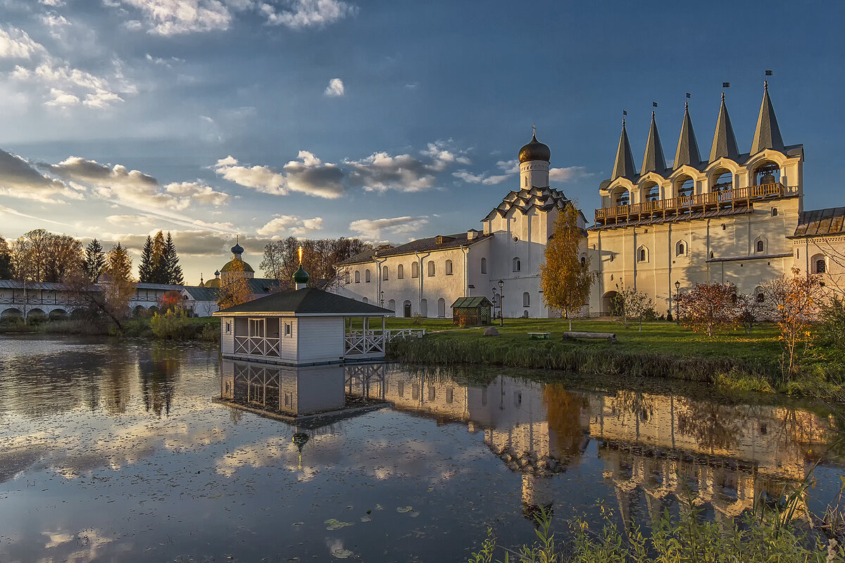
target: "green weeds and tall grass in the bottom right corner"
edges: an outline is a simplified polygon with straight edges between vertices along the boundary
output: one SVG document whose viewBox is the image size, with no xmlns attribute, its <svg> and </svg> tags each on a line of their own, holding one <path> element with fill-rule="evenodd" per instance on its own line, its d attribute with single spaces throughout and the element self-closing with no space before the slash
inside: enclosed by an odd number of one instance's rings
<svg viewBox="0 0 845 563">
<path fill-rule="evenodd" d="M 782 512 L 756 511 L 725 522 L 706 522 L 690 502 L 678 517 L 664 511 L 646 536 L 636 526 L 620 530 L 602 506 L 602 529 L 570 522 L 570 543 L 559 545 L 551 517 L 537 517 L 537 541 L 515 548 L 499 545 L 493 529 L 470 563 L 833 563 L 845 561 L 836 539 L 802 526 L 789 506 Z"/>
</svg>

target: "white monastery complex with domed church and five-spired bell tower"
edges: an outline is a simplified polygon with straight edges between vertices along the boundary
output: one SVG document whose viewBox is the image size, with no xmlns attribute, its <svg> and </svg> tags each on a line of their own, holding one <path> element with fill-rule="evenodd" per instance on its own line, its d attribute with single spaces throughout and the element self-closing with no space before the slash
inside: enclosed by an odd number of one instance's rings
<svg viewBox="0 0 845 563">
<path fill-rule="evenodd" d="M 397 317 L 450 317 L 465 296 L 486 296 L 504 317 L 559 317 L 542 302 L 540 265 L 559 210 L 572 205 L 549 186 L 551 151 L 536 135 L 519 153 L 519 187 L 481 220 L 482 230 L 379 247 L 338 266 L 341 295 Z M 764 84 L 748 152 L 740 152 L 724 95 L 710 152 L 702 159 L 689 107 L 668 163 L 654 114 L 641 166 L 625 124 L 600 207 L 580 257 L 594 274 L 585 316 L 613 314 L 623 288 L 646 293 L 657 315 L 704 282 L 733 282 L 761 298 L 760 284 L 793 268 L 845 280 L 845 207 L 804 210 L 804 146 L 783 142 Z"/>
</svg>

